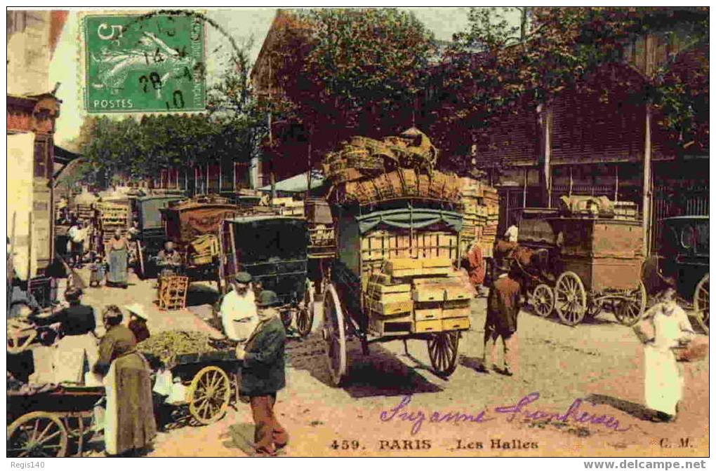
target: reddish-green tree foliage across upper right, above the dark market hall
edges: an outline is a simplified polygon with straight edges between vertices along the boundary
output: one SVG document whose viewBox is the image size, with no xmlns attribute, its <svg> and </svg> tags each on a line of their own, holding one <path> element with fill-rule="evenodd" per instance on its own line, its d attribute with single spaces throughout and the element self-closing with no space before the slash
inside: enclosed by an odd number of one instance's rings
<svg viewBox="0 0 716 471">
<path fill-rule="evenodd" d="M 505 19 L 504 9 L 473 9 L 467 31 L 455 35 L 437 70 L 442 101 L 434 127 L 442 144 L 454 137 L 456 124 L 469 122 L 458 136 L 463 149 L 475 135 L 505 113 L 548 103 L 563 89 L 598 94 L 629 91 L 653 104 L 659 123 L 682 142 L 707 144 L 697 124 L 708 94 L 708 64 L 697 64 L 690 76 L 670 72 L 671 64 L 648 71 L 642 81 L 624 74 L 625 54 L 644 34 L 681 34 L 692 43 L 708 44 L 706 8 L 574 7 L 521 10 L 521 25 Z M 706 99 L 707 103 L 707 99 Z M 697 137 L 696 134 L 701 134 Z"/>
</svg>

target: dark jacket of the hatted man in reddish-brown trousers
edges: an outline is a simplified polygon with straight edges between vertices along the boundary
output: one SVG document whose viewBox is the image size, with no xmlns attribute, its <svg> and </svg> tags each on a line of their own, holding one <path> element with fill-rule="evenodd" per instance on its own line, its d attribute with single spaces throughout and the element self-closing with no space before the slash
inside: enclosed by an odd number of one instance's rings
<svg viewBox="0 0 716 471">
<path fill-rule="evenodd" d="M 259 324 L 246 344 L 241 370 L 241 394 L 264 396 L 286 386 L 286 330 L 279 317 Z"/>
</svg>

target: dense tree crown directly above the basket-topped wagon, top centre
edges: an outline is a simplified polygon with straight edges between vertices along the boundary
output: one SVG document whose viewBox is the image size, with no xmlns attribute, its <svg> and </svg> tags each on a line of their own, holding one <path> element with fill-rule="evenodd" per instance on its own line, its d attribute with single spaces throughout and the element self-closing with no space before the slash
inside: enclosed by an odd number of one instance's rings
<svg viewBox="0 0 716 471">
<path fill-rule="evenodd" d="M 412 124 L 435 54 L 432 33 L 412 13 L 313 9 L 293 15 L 296 27 L 286 29 L 269 54 L 284 111 L 291 111 L 283 117 L 300 125 L 299 139 L 310 139 L 321 152 L 349 135 L 383 136 Z"/>
</svg>

